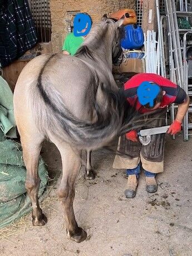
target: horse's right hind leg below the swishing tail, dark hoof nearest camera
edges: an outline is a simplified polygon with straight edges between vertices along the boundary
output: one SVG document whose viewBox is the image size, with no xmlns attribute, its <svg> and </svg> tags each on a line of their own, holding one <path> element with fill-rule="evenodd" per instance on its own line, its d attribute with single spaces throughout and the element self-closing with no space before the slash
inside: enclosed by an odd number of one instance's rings
<svg viewBox="0 0 192 256">
<path fill-rule="evenodd" d="M 72 149 L 66 143 L 56 145 L 62 158 L 62 180 L 58 188 L 66 220 L 67 237 L 77 243 L 86 239 L 87 233 L 78 227 L 73 211 L 73 199 L 75 196 L 75 181 L 81 168 L 81 151 Z"/>
</svg>

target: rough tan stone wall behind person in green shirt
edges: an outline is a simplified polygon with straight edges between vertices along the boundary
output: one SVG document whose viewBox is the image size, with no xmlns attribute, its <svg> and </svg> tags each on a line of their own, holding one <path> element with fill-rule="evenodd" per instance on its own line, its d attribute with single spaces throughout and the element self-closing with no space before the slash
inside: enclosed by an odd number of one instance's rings
<svg viewBox="0 0 192 256">
<path fill-rule="evenodd" d="M 135 8 L 135 0 L 50 0 L 53 52 L 60 52 L 67 33 L 67 11 L 81 11 L 90 14 L 96 22 L 103 14 L 122 8 Z"/>
</svg>

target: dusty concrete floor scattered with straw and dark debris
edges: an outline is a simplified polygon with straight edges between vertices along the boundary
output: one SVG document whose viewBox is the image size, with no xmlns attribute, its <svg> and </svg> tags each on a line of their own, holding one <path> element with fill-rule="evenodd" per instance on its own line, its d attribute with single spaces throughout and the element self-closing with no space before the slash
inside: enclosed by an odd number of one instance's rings
<svg viewBox="0 0 192 256">
<path fill-rule="evenodd" d="M 82 168 L 76 186 L 76 219 L 88 234 L 80 244 L 66 237 L 56 195 L 60 155 L 51 144 L 43 151 L 50 176 L 56 177 L 42 203 L 48 223 L 32 227 L 31 215 L 27 216 L 18 233 L 0 237 L 0 255 L 192 255 L 192 140 L 167 138 L 165 172 L 157 177 L 157 193 L 146 193 L 141 175 L 135 199 L 124 197 L 125 171 L 112 169 L 114 155 L 93 152 L 92 165 L 98 176 L 84 180 Z"/>
</svg>

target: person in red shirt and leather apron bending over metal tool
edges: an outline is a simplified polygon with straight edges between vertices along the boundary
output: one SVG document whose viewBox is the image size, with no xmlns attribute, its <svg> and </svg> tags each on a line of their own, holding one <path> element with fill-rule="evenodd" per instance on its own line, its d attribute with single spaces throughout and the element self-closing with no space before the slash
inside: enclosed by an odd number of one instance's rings
<svg viewBox="0 0 192 256">
<path fill-rule="evenodd" d="M 152 104 L 147 102 L 144 105 L 139 99 L 139 87 L 143 83 L 146 83 L 145 88 L 149 93 L 150 91 L 152 93 L 153 88 L 157 89 Z M 138 112 L 142 114 L 149 112 L 149 116 L 156 117 L 151 122 L 151 127 L 164 126 L 166 107 L 172 103 L 178 104 L 178 112 L 173 124 L 170 125 L 168 134 L 175 135 L 181 131 L 181 123 L 189 107 L 189 96 L 180 86 L 153 73 L 139 73 L 125 83 L 124 90 L 127 101 Z M 158 109 L 160 110 L 158 113 L 152 114 Z M 127 198 L 134 198 L 136 195 L 141 164 L 146 176 L 146 191 L 149 193 L 157 191 L 155 176 L 164 170 L 165 134 L 152 135 L 150 144 L 144 146 L 139 142 L 137 132 L 139 131 L 132 130 L 120 137 L 118 149 L 126 152 L 131 158 L 116 155 L 113 165 L 115 169 L 126 169 L 128 180 L 125 196 Z"/>
</svg>

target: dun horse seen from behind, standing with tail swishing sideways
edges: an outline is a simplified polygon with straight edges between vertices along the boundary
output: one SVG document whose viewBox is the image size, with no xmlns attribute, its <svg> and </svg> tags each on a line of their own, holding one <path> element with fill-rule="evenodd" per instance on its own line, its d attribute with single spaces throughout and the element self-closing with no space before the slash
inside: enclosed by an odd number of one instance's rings
<svg viewBox="0 0 192 256">
<path fill-rule="evenodd" d="M 23 68 L 13 95 L 14 116 L 27 169 L 26 190 L 32 202 L 32 224 L 47 223 L 38 202 L 38 161 L 48 139 L 60 151 L 62 180 L 58 196 L 65 212 L 67 237 L 86 239 L 73 211 L 75 181 L 82 150 L 99 149 L 119 136 L 124 99 L 112 75 L 121 56 L 124 17 L 106 15 L 92 27 L 75 56 L 40 55 Z"/>
</svg>

